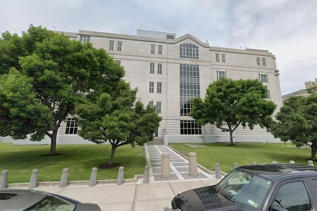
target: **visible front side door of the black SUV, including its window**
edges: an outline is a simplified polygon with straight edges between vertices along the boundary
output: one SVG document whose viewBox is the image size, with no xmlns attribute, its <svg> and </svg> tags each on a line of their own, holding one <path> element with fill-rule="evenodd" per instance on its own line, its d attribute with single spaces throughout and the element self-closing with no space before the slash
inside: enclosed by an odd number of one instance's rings
<svg viewBox="0 0 317 211">
<path fill-rule="evenodd" d="M 273 192 L 268 211 L 278 206 L 287 211 L 313 211 L 312 196 L 303 179 L 287 180 L 280 183 Z"/>
</svg>

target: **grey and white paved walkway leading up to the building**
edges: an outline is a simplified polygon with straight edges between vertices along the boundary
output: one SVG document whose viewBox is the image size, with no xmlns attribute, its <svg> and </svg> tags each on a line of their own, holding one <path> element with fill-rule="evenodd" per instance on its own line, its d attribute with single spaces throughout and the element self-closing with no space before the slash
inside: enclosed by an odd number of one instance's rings
<svg viewBox="0 0 317 211">
<path fill-rule="evenodd" d="M 147 145 L 147 164 L 150 167 L 150 182 L 160 181 L 190 181 L 215 179 L 215 175 L 208 174 L 198 168 L 198 176 L 190 176 L 188 160 L 175 153 L 165 145 Z M 161 177 L 161 155 L 170 154 L 170 177 Z"/>
</svg>

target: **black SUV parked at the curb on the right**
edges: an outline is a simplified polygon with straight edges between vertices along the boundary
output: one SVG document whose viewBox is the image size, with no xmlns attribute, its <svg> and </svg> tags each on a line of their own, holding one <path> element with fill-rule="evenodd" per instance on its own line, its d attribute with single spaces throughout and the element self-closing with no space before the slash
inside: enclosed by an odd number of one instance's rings
<svg viewBox="0 0 317 211">
<path fill-rule="evenodd" d="M 178 194 L 181 211 L 316 211 L 317 168 L 296 164 L 244 166 L 218 184 Z"/>
</svg>

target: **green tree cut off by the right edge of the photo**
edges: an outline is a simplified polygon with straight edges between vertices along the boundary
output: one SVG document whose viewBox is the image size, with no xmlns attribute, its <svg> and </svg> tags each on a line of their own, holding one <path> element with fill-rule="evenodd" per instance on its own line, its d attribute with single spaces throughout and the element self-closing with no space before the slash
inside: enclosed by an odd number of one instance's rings
<svg viewBox="0 0 317 211">
<path fill-rule="evenodd" d="M 276 120 L 267 118 L 271 132 L 281 141 L 292 141 L 300 147 L 311 147 L 311 159 L 316 159 L 317 153 L 317 93 L 308 97 L 295 96 L 289 98 Z"/>
</svg>

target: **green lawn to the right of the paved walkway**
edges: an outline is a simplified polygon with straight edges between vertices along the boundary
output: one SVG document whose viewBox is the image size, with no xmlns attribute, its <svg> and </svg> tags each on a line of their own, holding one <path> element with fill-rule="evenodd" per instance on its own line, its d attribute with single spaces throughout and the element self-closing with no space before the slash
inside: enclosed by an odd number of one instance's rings
<svg viewBox="0 0 317 211">
<path fill-rule="evenodd" d="M 285 147 L 284 143 L 235 143 L 236 146 L 226 146 L 228 143 L 206 144 L 206 148 L 192 148 L 184 146 L 184 152 L 196 152 L 197 161 L 204 167 L 214 170 L 214 163 L 219 163 L 220 169 L 229 172 L 233 163 L 238 166 L 251 165 L 252 162 L 259 164 L 288 163 L 290 160 L 297 164 L 307 165 L 307 159 L 311 156 L 308 149 Z M 289 145 L 289 144 L 288 144 Z M 178 152 L 181 151 L 181 144 L 172 144 Z"/>
</svg>

